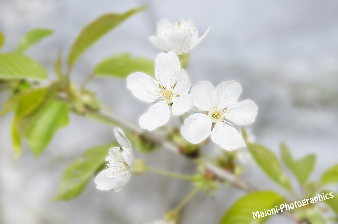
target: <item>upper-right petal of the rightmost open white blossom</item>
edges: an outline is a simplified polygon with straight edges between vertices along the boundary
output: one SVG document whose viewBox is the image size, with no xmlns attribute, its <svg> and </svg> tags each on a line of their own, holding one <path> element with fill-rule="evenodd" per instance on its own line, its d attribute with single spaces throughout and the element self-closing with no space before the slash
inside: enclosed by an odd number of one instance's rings
<svg viewBox="0 0 338 224">
<path fill-rule="evenodd" d="M 224 109 L 230 104 L 237 102 L 242 93 L 241 85 L 238 82 L 222 82 L 216 88 L 216 105 L 219 109 Z"/>
</svg>

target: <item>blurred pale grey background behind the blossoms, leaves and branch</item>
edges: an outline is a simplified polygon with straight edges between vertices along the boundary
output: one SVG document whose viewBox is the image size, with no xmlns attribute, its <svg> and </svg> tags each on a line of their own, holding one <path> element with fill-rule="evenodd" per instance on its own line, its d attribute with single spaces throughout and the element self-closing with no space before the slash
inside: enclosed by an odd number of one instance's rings
<svg viewBox="0 0 338 224">
<path fill-rule="evenodd" d="M 80 84 L 102 59 L 118 52 L 154 59 L 161 51 L 149 36 L 156 21 L 172 23 L 190 18 L 207 38 L 190 51 L 187 68 L 192 84 L 228 80 L 241 83 L 241 99 L 257 103 L 256 121 L 249 126 L 256 140 L 279 154 L 286 142 L 295 158 L 317 155 L 310 180 L 337 163 L 338 143 L 338 2 L 323 1 L 115 1 L 115 0 L 0 0 L 0 30 L 6 35 L 3 51 L 16 48 L 21 36 L 37 27 L 55 33 L 28 50 L 52 79 L 53 63 L 61 47 L 64 56 L 80 29 L 103 13 L 131 7 L 149 9 L 119 25 L 91 47 L 74 67 Z M 137 124 L 149 104 L 132 96 L 125 80 L 98 78 L 88 88 L 121 117 Z M 0 95 L 2 104 L 6 98 Z M 78 198 L 51 202 L 59 180 L 71 161 L 91 146 L 112 141 L 111 127 L 72 115 L 67 128 L 57 132 L 35 159 L 27 145 L 13 158 L 10 140 L 12 114 L 0 117 L 0 222 L 138 224 L 161 218 L 190 192 L 184 180 L 157 174 L 133 175 L 119 193 L 99 191 L 94 181 Z M 217 153 L 221 149 L 209 145 Z M 148 164 L 181 173 L 193 173 L 189 160 L 164 150 L 135 152 Z M 246 165 L 243 177 L 259 189 L 287 193 L 257 165 Z M 293 179 L 295 185 L 296 181 Z M 338 189 L 333 189 L 338 191 Z M 296 189 L 298 191 L 298 189 Z M 200 192 L 182 212 L 182 223 L 218 223 L 224 212 L 245 193 L 221 185 L 214 197 Z M 268 223 L 292 223 L 272 216 Z"/>
</svg>

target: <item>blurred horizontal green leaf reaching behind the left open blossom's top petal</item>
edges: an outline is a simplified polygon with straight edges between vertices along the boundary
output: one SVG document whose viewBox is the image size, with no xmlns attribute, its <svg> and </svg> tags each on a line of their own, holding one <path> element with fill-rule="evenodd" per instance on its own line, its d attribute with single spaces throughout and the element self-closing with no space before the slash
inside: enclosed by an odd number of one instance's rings
<svg viewBox="0 0 338 224">
<path fill-rule="evenodd" d="M 117 78 L 126 78 L 134 72 L 143 72 L 154 77 L 155 63 L 146 58 L 131 58 L 130 54 L 122 53 L 102 61 L 95 67 L 94 72 L 98 76 L 113 76 Z"/>
</svg>

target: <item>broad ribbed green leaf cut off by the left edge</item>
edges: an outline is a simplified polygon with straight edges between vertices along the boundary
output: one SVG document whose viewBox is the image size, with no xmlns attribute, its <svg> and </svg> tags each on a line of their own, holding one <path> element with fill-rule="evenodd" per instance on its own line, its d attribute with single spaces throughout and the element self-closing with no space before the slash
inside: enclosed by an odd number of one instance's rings
<svg viewBox="0 0 338 224">
<path fill-rule="evenodd" d="M 0 79 L 46 79 L 47 72 L 42 65 L 20 53 L 0 54 Z"/>
</svg>

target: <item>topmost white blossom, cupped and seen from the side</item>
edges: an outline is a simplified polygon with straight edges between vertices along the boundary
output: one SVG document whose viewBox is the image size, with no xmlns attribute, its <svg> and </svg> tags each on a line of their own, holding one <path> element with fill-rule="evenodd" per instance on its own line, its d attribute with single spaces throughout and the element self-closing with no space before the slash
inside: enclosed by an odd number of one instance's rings
<svg viewBox="0 0 338 224">
<path fill-rule="evenodd" d="M 191 19 L 180 19 L 180 22 L 171 24 L 166 19 L 157 21 L 157 36 L 150 36 L 151 43 L 163 50 L 174 51 L 178 56 L 188 52 L 201 40 L 206 38 L 210 27 L 198 38 L 198 30 Z"/>
</svg>

